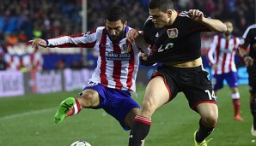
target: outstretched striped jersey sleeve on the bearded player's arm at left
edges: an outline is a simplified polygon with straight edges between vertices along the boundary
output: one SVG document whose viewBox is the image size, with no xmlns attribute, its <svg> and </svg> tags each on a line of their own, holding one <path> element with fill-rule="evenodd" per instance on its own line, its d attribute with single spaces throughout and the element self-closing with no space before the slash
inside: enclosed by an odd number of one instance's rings
<svg viewBox="0 0 256 146">
<path fill-rule="evenodd" d="M 69 48 L 69 47 L 81 47 L 81 48 L 94 48 L 97 40 L 97 30 L 94 29 L 87 33 L 80 33 L 70 36 L 60 36 L 57 38 L 48 39 L 49 47 Z"/>
</svg>

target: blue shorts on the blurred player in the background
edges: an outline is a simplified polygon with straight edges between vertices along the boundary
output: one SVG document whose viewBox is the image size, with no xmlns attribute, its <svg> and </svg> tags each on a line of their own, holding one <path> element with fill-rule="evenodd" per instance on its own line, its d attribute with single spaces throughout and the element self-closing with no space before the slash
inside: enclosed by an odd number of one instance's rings
<svg viewBox="0 0 256 146">
<path fill-rule="evenodd" d="M 214 74 L 211 79 L 214 91 L 222 89 L 224 79 L 226 79 L 230 88 L 238 87 L 238 79 L 236 72 Z"/>
</svg>

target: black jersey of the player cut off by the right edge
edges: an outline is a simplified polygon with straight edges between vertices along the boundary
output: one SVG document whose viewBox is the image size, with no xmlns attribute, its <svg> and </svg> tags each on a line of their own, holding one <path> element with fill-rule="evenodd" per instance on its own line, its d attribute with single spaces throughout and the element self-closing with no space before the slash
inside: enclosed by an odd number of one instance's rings
<svg viewBox="0 0 256 146">
<path fill-rule="evenodd" d="M 244 32 L 240 48 L 247 49 L 248 45 L 250 45 L 249 55 L 254 58 L 253 64 L 256 61 L 256 24 L 252 26 L 248 26 L 246 32 Z"/>
</svg>

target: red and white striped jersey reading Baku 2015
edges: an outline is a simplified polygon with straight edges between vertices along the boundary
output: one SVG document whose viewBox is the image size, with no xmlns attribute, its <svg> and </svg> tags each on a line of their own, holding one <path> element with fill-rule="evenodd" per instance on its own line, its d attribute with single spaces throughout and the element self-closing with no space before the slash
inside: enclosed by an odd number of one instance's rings
<svg viewBox="0 0 256 146">
<path fill-rule="evenodd" d="M 125 33 L 130 29 L 126 26 Z M 48 46 L 94 48 L 98 51 L 97 67 L 89 81 L 124 91 L 136 91 L 140 51 L 149 54 L 148 48 L 140 49 L 125 37 L 113 43 L 104 26 L 87 33 L 48 39 Z"/>
</svg>

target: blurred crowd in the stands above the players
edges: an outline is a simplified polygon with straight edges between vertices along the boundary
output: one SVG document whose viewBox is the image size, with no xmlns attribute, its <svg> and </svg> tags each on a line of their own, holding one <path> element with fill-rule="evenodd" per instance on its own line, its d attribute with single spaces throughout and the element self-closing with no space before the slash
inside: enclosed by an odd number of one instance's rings
<svg viewBox="0 0 256 146">
<path fill-rule="evenodd" d="M 88 30 L 104 25 L 108 7 L 121 5 L 128 11 L 128 24 L 142 28 L 148 17 L 148 0 L 88 0 Z M 233 20 L 241 36 L 255 22 L 254 0 L 174 0 L 175 9 L 200 9 L 220 20 Z M 1 0 L 0 43 L 27 42 L 82 32 L 82 0 Z"/>
</svg>

